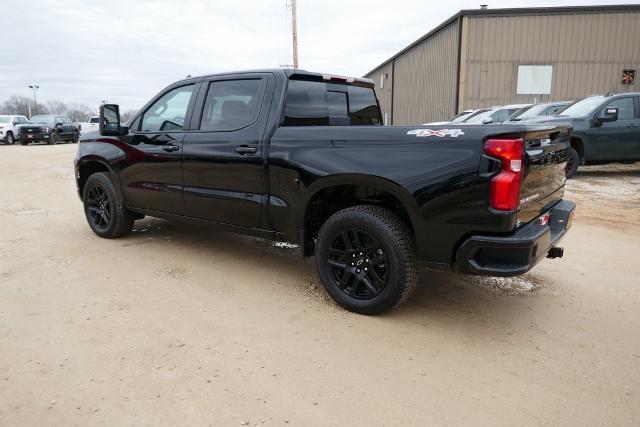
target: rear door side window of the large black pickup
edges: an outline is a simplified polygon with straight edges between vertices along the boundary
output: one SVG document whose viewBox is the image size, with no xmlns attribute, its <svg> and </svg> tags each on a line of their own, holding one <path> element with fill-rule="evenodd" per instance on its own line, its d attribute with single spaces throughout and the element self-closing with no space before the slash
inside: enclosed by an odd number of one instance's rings
<svg viewBox="0 0 640 427">
<path fill-rule="evenodd" d="M 258 118 L 263 90 L 262 79 L 211 82 L 204 101 L 200 130 L 231 131 L 252 124 Z"/>
</svg>

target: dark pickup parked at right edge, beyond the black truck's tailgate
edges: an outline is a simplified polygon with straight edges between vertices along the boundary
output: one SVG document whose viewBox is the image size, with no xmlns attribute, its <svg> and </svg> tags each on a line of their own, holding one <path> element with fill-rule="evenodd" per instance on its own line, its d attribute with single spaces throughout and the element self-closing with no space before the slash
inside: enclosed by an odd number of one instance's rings
<svg viewBox="0 0 640 427">
<path fill-rule="evenodd" d="M 567 177 L 580 164 L 640 160 L 640 93 L 589 96 L 527 122 L 573 126 Z"/>
</svg>

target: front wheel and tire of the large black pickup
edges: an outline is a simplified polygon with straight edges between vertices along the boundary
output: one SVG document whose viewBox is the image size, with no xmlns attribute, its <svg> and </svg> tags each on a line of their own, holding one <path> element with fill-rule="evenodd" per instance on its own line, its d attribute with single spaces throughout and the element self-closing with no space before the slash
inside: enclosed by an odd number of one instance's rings
<svg viewBox="0 0 640 427">
<path fill-rule="evenodd" d="M 89 176 L 82 202 L 89 227 L 98 236 L 113 239 L 131 231 L 134 217 L 122 204 L 109 174 L 100 172 Z"/>
</svg>

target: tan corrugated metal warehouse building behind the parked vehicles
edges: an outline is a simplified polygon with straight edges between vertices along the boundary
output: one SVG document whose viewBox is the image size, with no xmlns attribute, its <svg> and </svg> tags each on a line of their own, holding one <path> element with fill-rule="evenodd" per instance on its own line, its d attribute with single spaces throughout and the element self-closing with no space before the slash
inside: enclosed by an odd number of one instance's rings
<svg viewBox="0 0 640 427">
<path fill-rule="evenodd" d="M 640 5 L 462 10 L 365 77 L 386 124 L 639 91 Z M 640 71 L 638 71 L 640 72 Z"/>
</svg>

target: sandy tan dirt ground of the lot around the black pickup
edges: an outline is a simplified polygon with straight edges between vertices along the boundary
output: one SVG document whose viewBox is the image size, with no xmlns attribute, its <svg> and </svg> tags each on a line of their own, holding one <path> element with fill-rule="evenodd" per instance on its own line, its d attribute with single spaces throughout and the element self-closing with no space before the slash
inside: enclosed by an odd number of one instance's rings
<svg viewBox="0 0 640 427">
<path fill-rule="evenodd" d="M 338 308 L 311 259 L 87 226 L 76 147 L 0 146 L 0 425 L 637 425 L 640 163 L 581 168 L 565 257 Z"/>
</svg>

